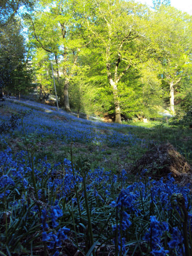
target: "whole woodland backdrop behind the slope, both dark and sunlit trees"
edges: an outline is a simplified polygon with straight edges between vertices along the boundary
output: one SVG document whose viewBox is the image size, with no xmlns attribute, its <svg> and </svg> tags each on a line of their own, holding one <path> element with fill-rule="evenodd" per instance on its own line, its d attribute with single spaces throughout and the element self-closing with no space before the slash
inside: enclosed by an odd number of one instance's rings
<svg viewBox="0 0 192 256">
<path fill-rule="evenodd" d="M 192 106 L 192 16 L 154 0 L 1 0 L 0 88 L 54 94 L 87 116 L 182 118 Z"/>
</svg>

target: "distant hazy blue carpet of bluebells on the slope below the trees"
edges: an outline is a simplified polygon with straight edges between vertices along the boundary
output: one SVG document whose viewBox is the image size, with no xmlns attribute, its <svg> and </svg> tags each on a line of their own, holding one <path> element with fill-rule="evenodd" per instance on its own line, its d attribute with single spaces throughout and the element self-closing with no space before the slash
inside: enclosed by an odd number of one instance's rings
<svg viewBox="0 0 192 256">
<path fill-rule="evenodd" d="M 6 102 L 5 104 L 4 107 L 20 112 L 24 116 L 23 123 L 26 127 L 26 135 L 35 133 L 39 137 L 53 137 L 65 143 L 74 141 L 110 146 L 130 145 L 137 141 L 137 138 L 131 133 L 123 134 L 116 131 L 120 124 L 77 118 L 65 111 L 52 110 L 52 107 L 48 105 L 43 108 L 43 104 L 35 106 L 35 109 L 13 102 Z M 61 117 L 61 119 L 56 119 L 55 116 Z M 62 117 L 65 119 L 63 120 Z M 1 116 L 0 124 L 8 119 L 9 116 Z M 18 126 L 13 130 L 13 135 L 14 133 L 22 134 L 22 129 L 21 123 L 18 123 Z M 108 132 L 103 132 L 106 129 L 108 129 Z"/>
</svg>

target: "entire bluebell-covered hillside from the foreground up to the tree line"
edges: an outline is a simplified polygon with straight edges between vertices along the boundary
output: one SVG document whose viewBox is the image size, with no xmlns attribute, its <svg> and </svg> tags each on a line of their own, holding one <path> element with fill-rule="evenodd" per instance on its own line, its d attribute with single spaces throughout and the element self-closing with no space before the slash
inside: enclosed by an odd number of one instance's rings
<svg viewBox="0 0 192 256">
<path fill-rule="evenodd" d="M 169 139 L 191 162 L 190 129 L 6 100 L 0 131 L 1 255 L 190 255 L 191 184 L 161 178 L 165 166 L 149 155 Z M 156 166 L 139 171 L 153 154 Z"/>
</svg>

